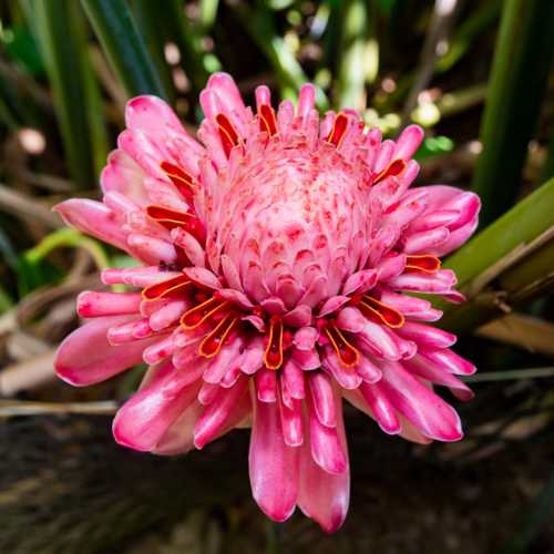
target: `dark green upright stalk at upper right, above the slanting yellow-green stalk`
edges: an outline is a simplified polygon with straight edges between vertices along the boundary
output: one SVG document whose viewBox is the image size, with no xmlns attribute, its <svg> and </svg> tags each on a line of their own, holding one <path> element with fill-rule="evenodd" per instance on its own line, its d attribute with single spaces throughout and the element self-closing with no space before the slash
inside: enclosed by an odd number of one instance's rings
<svg viewBox="0 0 554 554">
<path fill-rule="evenodd" d="M 504 2 L 472 186 L 483 201 L 482 224 L 505 212 L 520 192 L 554 51 L 553 28 L 552 0 Z"/>
</svg>

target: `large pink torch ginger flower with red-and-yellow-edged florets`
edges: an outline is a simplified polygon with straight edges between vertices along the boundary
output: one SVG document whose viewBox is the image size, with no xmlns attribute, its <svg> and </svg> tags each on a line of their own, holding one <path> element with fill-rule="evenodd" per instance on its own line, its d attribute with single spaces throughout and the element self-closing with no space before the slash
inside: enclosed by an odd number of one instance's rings
<svg viewBox="0 0 554 554">
<path fill-rule="evenodd" d="M 138 96 L 102 173 L 103 202 L 70 199 L 64 220 L 136 258 L 103 271 L 127 293 L 82 293 L 89 321 L 61 345 L 59 376 L 86 386 L 150 366 L 113 423 L 115 440 L 177 454 L 252 425 L 253 494 L 273 520 L 295 506 L 327 532 L 345 521 L 349 463 L 342 399 L 389 434 L 428 443 L 462 437 L 445 386 L 475 368 L 429 325 L 410 293 L 461 301 L 439 257 L 478 223 L 479 198 L 409 188 L 422 131 L 397 142 L 351 111 L 245 106 L 217 73 L 201 94 L 197 142 L 160 99 Z"/>
</svg>

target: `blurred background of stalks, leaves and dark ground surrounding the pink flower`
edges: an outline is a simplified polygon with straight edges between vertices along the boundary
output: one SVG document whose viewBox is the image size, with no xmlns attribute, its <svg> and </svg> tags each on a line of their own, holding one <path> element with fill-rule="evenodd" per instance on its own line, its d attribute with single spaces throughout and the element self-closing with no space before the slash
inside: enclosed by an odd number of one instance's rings
<svg viewBox="0 0 554 554">
<path fill-rule="evenodd" d="M 554 2 L 552 0 L 3 0 L 0 3 L 0 552 L 554 552 Z M 136 368 L 88 390 L 53 377 L 74 297 L 129 259 L 50 211 L 96 197 L 125 101 L 166 99 L 191 130 L 207 76 L 232 73 L 394 137 L 427 131 L 418 183 L 472 188 L 481 233 L 447 261 L 445 309 L 480 372 L 466 439 L 421 448 L 349 413 L 352 505 L 332 537 L 268 524 L 247 434 L 165 460 L 110 419 Z"/>
</svg>

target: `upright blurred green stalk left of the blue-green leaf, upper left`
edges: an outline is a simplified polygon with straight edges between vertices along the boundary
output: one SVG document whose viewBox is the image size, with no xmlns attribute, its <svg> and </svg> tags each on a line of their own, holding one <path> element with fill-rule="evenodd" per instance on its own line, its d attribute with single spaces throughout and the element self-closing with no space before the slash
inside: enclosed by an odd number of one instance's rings
<svg viewBox="0 0 554 554">
<path fill-rule="evenodd" d="M 106 137 L 100 90 L 86 51 L 84 19 L 73 0 L 34 0 L 32 8 L 69 172 L 78 186 L 91 188 L 99 168 L 95 158 L 105 157 Z"/>
</svg>

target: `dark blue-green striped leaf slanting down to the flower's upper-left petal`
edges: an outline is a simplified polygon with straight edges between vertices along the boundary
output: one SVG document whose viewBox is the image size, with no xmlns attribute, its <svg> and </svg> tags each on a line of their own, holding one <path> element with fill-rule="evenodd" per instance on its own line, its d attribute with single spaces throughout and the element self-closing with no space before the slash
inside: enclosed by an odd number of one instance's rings
<svg viewBox="0 0 554 554">
<path fill-rule="evenodd" d="M 125 0 L 81 0 L 81 3 L 129 96 L 156 94 L 167 99 Z"/>
</svg>

